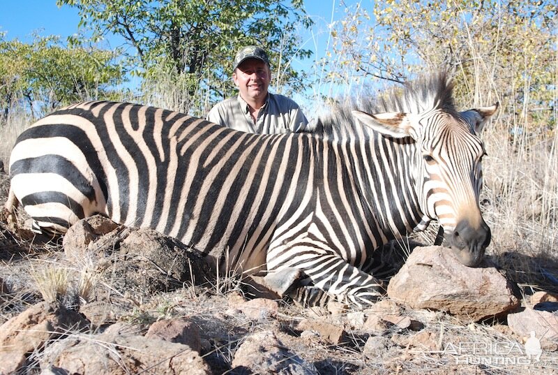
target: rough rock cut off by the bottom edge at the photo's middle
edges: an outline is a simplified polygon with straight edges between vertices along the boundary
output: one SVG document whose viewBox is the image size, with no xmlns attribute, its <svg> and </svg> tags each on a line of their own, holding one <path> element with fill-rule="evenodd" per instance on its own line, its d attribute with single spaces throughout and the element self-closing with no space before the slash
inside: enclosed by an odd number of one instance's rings
<svg viewBox="0 0 558 375">
<path fill-rule="evenodd" d="M 292 353 L 271 331 L 252 333 L 236 349 L 234 374 L 317 375 L 317 369 Z"/>
</svg>

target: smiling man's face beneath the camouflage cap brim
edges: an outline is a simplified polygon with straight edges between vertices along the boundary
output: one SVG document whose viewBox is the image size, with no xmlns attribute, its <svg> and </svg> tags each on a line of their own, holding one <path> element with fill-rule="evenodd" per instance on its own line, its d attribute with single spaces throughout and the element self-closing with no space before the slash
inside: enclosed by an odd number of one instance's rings
<svg viewBox="0 0 558 375">
<path fill-rule="evenodd" d="M 234 84 L 239 88 L 240 96 L 245 101 L 261 101 L 267 95 L 267 88 L 271 81 L 269 66 L 259 59 L 242 61 L 232 73 Z"/>
</svg>

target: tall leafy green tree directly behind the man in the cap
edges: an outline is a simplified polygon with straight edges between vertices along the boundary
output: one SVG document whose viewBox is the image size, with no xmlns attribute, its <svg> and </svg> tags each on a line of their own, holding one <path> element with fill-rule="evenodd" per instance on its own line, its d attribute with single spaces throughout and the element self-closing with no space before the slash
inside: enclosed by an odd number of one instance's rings
<svg viewBox="0 0 558 375">
<path fill-rule="evenodd" d="M 242 45 L 262 45 L 270 52 L 276 89 L 303 87 L 290 65 L 310 56 L 299 46 L 296 27 L 311 22 L 301 0 L 58 0 L 79 9 L 81 27 L 93 36 L 116 34 L 132 47 L 126 62 L 146 82 L 169 76 L 184 89 L 178 110 L 204 112 L 208 101 L 234 92 L 232 59 Z M 160 82 L 158 82 L 160 83 Z M 171 87 L 167 87 L 171 89 Z"/>
</svg>

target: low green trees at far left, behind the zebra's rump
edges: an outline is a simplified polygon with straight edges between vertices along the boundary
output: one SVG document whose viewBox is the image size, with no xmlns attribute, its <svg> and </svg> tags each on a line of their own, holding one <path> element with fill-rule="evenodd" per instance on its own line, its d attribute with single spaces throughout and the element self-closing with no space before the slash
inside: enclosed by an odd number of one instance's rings
<svg viewBox="0 0 558 375">
<path fill-rule="evenodd" d="M 63 45 L 57 36 L 36 36 L 30 44 L 0 35 L 0 105 L 27 107 L 34 117 L 60 105 L 111 98 L 123 82 L 115 52 L 86 45 Z"/>
</svg>

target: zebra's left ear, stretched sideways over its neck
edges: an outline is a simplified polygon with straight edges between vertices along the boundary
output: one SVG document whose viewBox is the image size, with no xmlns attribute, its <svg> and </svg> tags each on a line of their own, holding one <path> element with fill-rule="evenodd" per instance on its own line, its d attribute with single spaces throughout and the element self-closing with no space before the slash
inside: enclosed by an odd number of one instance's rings
<svg viewBox="0 0 558 375">
<path fill-rule="evenodd" d="M 403 112 L 385 112 L 370 114 L 359 110 L 352 111 L 354 119 L 372 130 L 393 138 L 412 136 L 409 116 Z"/>
</svg>

